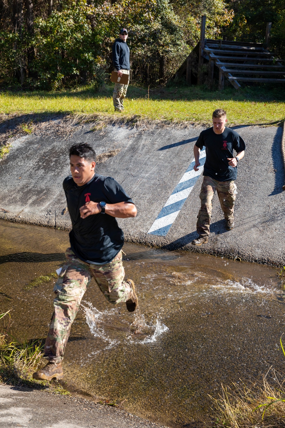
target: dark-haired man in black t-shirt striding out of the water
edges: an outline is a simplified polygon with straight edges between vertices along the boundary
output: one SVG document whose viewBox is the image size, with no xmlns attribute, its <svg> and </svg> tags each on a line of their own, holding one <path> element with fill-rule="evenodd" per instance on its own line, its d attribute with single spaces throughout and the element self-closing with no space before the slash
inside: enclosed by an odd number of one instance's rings
<svg viewBox="0 0 285 428">
<path fill-rule="evenodd" d="M 71 175 L 63 181 L 63 188 L 72 223 L 71 247 L 54 287 L 54 312 L 44 347 L 48 363 L 33 374 L 34 379 L 62 379 L 71 324 L 92 277 L 109 303 L 125 302 L 129 312 L 138 305 L 132 279 L 124 280 L 124 237 L 115 218 L 135 217 L 137 209 L 114 178 L 95 174 L 96 155 L 91 146 L 74 144 L 69 158 Z"/>
</svg>

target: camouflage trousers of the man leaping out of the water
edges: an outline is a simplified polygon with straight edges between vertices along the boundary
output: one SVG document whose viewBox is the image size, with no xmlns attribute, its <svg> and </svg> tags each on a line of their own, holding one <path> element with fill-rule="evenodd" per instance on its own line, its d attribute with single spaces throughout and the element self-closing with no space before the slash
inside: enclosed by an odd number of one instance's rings
<svg viewBox="0 0 285 428">
<path fill-rule="evenodd" d="M 106 265 L 82 262 L 76 259 L 71 248 L 66 250 L 65 256 L 67 262 L 54 286 L 54 312 L 44 346 L 44 358 L 53 363 L 59 363 L 63 359 L 71 324 L 92 277 L 110 303 L 126 302 L 132 291 L 129 283 L 123 281 L 125 271 L 121 251 Z"/>
</svg>

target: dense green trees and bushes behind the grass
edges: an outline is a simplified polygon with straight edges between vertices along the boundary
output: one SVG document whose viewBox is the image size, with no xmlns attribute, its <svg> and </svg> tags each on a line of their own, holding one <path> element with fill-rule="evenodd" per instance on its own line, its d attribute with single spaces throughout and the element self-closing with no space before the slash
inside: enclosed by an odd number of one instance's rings
<svg viewBox="0 0 285 428">
<path fill-rule="evenodd" d="M 129 30 L 133 82 L 164 84 L 200 35 L 264 42 L 284 57 L 285 0 L 0 0 L 2 86 L 60 89 L 102 85 L 112 70 L 112 44 Z"/>
</svg>

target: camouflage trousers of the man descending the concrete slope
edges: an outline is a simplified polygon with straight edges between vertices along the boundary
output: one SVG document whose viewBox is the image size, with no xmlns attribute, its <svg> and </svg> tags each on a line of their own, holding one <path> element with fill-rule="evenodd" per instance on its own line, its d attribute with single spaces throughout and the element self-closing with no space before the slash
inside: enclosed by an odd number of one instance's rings
<svg viewBox="0 0 285 428">
<path fill-rule="evenodd" d="M 233 220 L 236 188 L 233 180 L 216 181 L 204 176 L 200 192 L 201 208 L 197 217 L 197 232 L 200 236 L 210 235 L 212 199 L 216 190 L 225 219 Z"/>
</svg>

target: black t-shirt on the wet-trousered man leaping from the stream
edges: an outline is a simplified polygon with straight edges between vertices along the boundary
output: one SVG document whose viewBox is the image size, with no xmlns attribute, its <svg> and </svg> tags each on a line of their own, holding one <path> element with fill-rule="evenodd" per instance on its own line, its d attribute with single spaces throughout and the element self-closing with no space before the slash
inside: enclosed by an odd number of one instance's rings
<svg viewBox="0 0 285 428">
<path fill-rule="evenodd" d="M 69 239 L 75 256 L 95 265 L 112 262 L 124 243 L 123 231 L 117 220 L 101 213 L 82 219 L 79 208 L 89 200 L 115 204 L 132 202 L 132 199 L 114 178 L 97 174 L 84 186 L 77 186 L 69 175 L 63 181 L 63 189 L 71 217 L 72 230 Z"/>
</svg>

